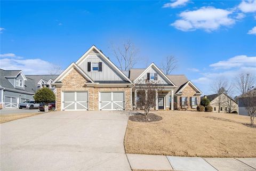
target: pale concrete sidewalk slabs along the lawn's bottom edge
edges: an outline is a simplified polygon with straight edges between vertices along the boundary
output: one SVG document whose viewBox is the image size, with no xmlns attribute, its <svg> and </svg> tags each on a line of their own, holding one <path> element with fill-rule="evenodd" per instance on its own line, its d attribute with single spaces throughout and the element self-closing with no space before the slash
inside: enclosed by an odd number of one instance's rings
<svg viewBox="0 0 256 171">
<path fill-rule="evenodd" d="M 256 158 L 201 158 L 127 154 L 133 170 L 256 171 Z"/>
</svg>

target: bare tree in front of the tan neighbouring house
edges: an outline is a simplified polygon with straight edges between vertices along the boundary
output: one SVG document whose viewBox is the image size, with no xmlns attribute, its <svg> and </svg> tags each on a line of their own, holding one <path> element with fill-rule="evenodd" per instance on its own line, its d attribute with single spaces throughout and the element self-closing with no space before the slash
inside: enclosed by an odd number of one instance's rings
<svg viewBox="0 0 256 171">
<path fill-rule="evenodd" d="M 212 91 L 217 95 L 217 97 L 212 101 L 216 105 L 220 112 L 220 108 L 223 107 L 227 101 L 228 92 L 230 92 L 231 86 L 225 80 L 225 78 L 217 79 L 212 83 Z"/>
</svg>

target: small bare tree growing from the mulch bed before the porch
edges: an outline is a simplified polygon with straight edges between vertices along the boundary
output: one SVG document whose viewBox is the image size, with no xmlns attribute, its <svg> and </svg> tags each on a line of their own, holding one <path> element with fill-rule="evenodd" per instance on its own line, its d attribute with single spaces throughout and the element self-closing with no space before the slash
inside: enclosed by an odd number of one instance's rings
<svg viewBox="0 0 256 171">
<path fill-rule="evenodd" d="M 137 107 L 144 110 L 146 117 L 148 112 L 156 107 L 156 92 L 163 89 L 163 86 L 160 85 L 161 84 L 154 80 L 139 80 L 134 86 L 134 89 L 137 90 Z"/>
</svg>

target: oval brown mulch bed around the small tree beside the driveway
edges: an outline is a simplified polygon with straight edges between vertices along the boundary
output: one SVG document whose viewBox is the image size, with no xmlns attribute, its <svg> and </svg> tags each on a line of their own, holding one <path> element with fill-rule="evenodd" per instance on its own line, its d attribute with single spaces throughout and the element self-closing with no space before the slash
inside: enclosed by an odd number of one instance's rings
<svg viewBox="0 0 256 171">
<path fill-rule="evenodd" d="M 136 115 L 130 116 L 129 120 L 137 121 L 140 123 L 151 123 L 154 121 L 162 120 L 162 117 L 154 113 L 148 113 L 147 117 L 145 117 L 142 113 L 137 113 Z"/>
</svg>

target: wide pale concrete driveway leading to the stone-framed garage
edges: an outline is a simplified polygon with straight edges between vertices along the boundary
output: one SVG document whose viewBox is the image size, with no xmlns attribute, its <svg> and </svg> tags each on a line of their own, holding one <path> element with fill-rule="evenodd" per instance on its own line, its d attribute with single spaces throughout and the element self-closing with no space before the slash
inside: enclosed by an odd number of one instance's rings
<svg viewBox="0 0 256 171">
<path fill-rule="evenodd" d="M 127 119 L 118 111 L 62 111 L 0 124 L 1 170 L 131 170 Z"/>
</svg>

